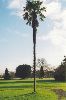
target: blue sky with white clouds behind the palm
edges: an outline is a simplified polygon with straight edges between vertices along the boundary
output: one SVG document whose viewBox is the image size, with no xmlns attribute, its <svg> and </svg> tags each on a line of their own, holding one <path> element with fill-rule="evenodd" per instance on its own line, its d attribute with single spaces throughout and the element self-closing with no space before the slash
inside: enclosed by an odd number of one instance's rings
<svg viewBox="0 0 66 100">
<path fill-rule="evenodd" d="M 57 67 L 66 55 L 66 0 L 40 0 L 46 7 L 37 29 L 36 58 Z M 23 20 L 26 0 L 0 0 L 0 73 L 33 65 L 32 28 Z"/>
</svg>

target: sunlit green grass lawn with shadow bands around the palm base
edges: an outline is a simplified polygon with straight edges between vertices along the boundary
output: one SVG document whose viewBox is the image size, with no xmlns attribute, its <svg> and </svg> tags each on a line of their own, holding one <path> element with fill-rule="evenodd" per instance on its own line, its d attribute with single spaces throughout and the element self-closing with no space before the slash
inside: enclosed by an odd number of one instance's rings
<svg viewBox="0 0 66 100">
<path fill-rule="evenodd" d="M 66 83 L 53 79 L 0 80 L 0 100 L 66 100 Z"/>
</svg>

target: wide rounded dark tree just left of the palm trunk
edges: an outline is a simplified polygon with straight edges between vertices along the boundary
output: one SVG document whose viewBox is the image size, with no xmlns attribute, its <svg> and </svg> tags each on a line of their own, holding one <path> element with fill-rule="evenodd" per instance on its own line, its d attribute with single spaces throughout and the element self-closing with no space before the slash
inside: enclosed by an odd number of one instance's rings
<svg viewBox="0 0 66 100">
<path fill-rule="evenodd" d="M 30 65 L 19 65 L 16 68 L 16 77 L 25 79 L 31 77 L 31 66 Z"/>
</svg>

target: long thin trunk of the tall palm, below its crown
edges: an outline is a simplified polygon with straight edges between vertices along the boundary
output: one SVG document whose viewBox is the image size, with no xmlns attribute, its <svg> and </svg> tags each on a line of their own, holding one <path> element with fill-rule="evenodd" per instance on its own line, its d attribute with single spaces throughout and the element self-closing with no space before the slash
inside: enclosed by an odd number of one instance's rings
<svg viewBox="0 0 66 100">
<path fill-rule="evenodd" d="M 36 28 L 33 28 L 33 73 L 34 73 L 34 92 L 36 92 Z"/>
</svg>

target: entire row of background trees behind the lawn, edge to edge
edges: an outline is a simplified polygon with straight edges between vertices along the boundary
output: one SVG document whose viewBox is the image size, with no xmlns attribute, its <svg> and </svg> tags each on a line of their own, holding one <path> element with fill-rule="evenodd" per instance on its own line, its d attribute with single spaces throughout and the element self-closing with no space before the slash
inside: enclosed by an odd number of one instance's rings
<svg viewBox="0 0 66 100">
<path fill-rule="evenodd" d="M 54 78 L 55 81 L 66 81 L 66 56 L 64 56 L 61 64 L 55 69 L 50 69 L 44 58 L 37 59 L 36 67 L 36 78 Z M 0 78 L 5 80 L 14 78 L 25 79 L 33 77 L 33 67 L 27 64 L 19 65 L 16 68 L 16 72 L 9 72 L 6 68 L 5 73 L 0 75 Z"/>
</svg>

